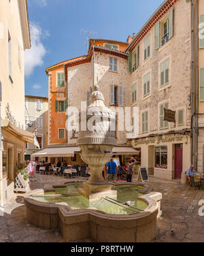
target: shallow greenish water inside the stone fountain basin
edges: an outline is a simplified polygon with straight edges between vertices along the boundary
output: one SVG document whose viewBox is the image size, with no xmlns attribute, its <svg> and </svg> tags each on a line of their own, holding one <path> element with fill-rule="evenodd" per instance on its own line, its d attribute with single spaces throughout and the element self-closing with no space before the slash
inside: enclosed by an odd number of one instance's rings
<svg viewBox="0 0 204 256">
<path fill-rule="evenodd" d="M 132 214 L 135 213 L 133 208 L 129 208 L 127 206 L 122 207 L 122 204 L 118 205 L 114 202 L 109 202 L 106 199 L 99 199 L 94 202 L 89 202 L 89 200 L 84 197 L 83 195 L 76 195 L 78 194 L 78 188 L 82 187 L 82 183 L 75 183 L 71 185 L 67 185 L 67 187 L 63 188 L 56 188 L 56 194 L 67 194 L 67 196 L 49 196 L 49 197 L 35 197 L 37 201 L 46 202 L 46 203 L 60 203 L 65 202 L 71 207 L 71 209 L 82 209 L 82 208 L 89 208 L 95 207 L 98 210 L 109 214 Z M 112 189 L 116 189 L 118 191 L 117 200 L 124 203 L 127 201 L 133 201 L 134 207 L 145 209 L 148 204 L 141 199 L 138 199 L 141 193 L 139 190 L 143 189 L 143 187 L 138 187 L 135 185 L 124 185 L 124 186 L 113 186 Z"/>
</svg>

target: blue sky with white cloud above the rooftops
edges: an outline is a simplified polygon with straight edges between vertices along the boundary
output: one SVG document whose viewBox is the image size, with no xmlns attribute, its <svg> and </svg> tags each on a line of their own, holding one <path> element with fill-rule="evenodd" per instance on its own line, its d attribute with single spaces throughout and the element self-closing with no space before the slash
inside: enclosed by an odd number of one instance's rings
<svg viewBox="0 0 204 256">
<path fill-rule="evenodd" d="M 163 0 L 27 0 L 31 50 L 25 51 L 25 93 L 48 96 L 45 69 L 86 54 L 86 34 L 126 42 Z"/>
</svg>

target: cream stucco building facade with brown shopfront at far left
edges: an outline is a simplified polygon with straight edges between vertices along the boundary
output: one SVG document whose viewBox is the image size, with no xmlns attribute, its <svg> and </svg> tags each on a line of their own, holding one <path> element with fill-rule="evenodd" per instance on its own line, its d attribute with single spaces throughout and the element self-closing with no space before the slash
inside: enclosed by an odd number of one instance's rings
<svg viewBox="0 0 204 256">
<path fill-rule="evenodd" d="M 31 48 L 26 0 L 0 2 L 2 168 L 1 206 L 14 193 L 16 167 L 24 162 L 24 50 Z M 32 136 L 31 136 L 32 137 Z M 1 155 L 0 155 L 1 157 Z"/>
</svg>

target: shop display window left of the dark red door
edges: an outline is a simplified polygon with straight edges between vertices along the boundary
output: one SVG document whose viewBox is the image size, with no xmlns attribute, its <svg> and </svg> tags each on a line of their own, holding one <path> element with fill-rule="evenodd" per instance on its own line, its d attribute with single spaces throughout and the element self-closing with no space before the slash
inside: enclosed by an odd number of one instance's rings
<svg viewBox="0 0 204 256">
<path fill-rule="evenodd" d="M 155 167 L 167 169 L 167 146 L 155 148 Z"/>
</svg>

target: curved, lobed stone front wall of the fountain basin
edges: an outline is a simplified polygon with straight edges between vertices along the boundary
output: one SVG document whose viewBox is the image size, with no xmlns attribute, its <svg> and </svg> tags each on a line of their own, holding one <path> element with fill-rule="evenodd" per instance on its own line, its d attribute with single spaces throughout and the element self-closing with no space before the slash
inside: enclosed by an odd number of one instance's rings
<svg viewBox="0 0 204 256">
<path fill-rule="evenodd" d="M 39 195 L 42 191 L 33 193 Z M 48 229 L 60 228 L 65 242 L 85 238 L 95 242 L 150 242 L 156 236 L 158 202 L 150 194 L 139 199 L 147 207 L 144 212 L 131 214 L 109 214 L 96 208 L 72 210 L 65 202 L 39 202 L 32 195 L 25 197 L 24 203 L 29 223 Z"/>
</svg>

